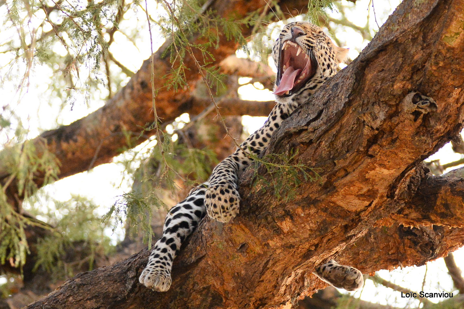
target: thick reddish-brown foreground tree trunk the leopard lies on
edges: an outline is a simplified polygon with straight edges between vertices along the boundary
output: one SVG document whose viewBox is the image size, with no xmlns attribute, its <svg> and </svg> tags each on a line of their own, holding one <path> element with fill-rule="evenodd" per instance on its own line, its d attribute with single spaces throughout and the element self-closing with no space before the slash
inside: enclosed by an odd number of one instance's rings
<svg viewBox="0 0 464 309">
<path fill-rule="evenodd" d="M 246 171 L 240 214 L 226 225 L 203 220 L 174 263 L 168 292 L 138 283 L 143 250 L 27 308 L 277 308 L 324 287 L 311 272 L 328 258 L 370 273 L 460 247 L 464 223 L 454 218 L 463 216 L 464 191 L 446 183 L 462 180 L 427 176 L 421 161 L 462 128 L 463 7 L 464 0 L 403 1 L 268 148 L 296 153 L 295 161 L 318 168 L 322 184 L 303 182 L 284 201 L 264 168 L 266 181 Z M 436 105 L 408 95 L 416 91 Z M 445 189 L 423 201 L 437 181 Z"/>
</svg>

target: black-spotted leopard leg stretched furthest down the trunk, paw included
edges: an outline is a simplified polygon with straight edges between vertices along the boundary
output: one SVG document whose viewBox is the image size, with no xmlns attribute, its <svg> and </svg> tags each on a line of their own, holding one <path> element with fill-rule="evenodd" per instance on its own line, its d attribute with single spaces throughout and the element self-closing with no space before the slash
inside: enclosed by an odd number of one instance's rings
<svg viewBox="0 0 464 309">
<path fill-rule="evenodd" d="M 187 199 L 168 212 L 164 221 L 163 235 L 156 242 L 148 264 L 139 277 L 140 283 L 148 289 L 158 292 L 169 290 L 171 269 L 180 245 L 206 214 L 205 191 L 206 189 L 192 190 Z"/>
</svg>

